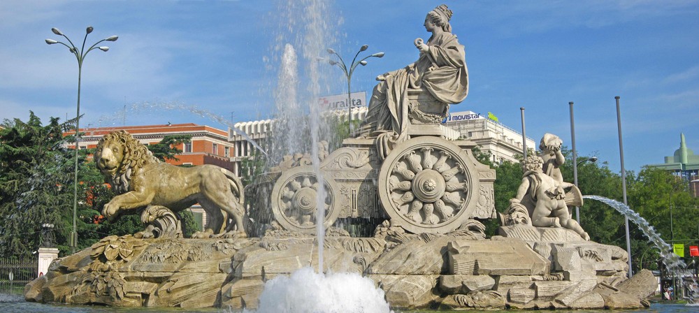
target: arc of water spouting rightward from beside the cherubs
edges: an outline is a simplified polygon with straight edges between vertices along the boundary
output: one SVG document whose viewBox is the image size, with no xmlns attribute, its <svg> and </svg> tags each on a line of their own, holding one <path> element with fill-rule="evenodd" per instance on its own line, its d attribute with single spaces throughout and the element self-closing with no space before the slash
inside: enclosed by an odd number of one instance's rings
<svg viewBox="0 0 699 313">
<path fill-rule="evenodd" d="M 658 250 L 660 250 L 661 261 L 663 261 L 665 267 L 671 270 L 672 272 L 675 272 L 676 276 L 682 277 L 682 275 L 679 275 L 679 273 L 680 270 L 684 270 L 686 268 L 686 264 L 684 263 L 684 261 L 682 261 L 682 259 L 679 258 L 679 256 L 677 256 L 677 254 L 675 254 L 675 252 L 672 251 L 672 247 L 667 242 L 665 242 L 663 238 L 660 237 L 660 234 L 658 234 L 655 231 L 655 228 L 651 226 L 651 224 L 649 224 L 648 221 L 646 221 L 646 219 L 641 217 L 640 214 L 638 214 L 634 210 L 631 210 L 631 208 L 629 208 L 628 205 L 625 205 L 624 203 L 612 200 L 610 198 L 605 198 L 603 196 L 582 196 L 582 198 L 601 201 L 614 208 L 614 210 L 619 211 L 619 213 L 624 214 L 624 216 L 628 217 L 628 219 L 630 219 L 630 221 L 633 221 L 638 226 L 638 228 L 644 233 L 644 235 L 648 237 L 650 242 L 652 242 L 658 248 Z M 696 282 L 694 282 L 694 284 L 696 285 Z"/>
</svg>

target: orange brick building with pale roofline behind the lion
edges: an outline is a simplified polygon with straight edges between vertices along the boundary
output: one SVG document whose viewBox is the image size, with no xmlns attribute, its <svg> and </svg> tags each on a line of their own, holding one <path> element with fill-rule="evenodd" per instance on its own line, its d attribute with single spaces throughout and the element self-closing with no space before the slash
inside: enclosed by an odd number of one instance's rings
<svg viewBox="0 0 699 313">
<path fill-rule="evenodd" d="M 233 143 L 228 142 L 228 132 L 206 125 L 188 123 L 80 129 L 83 136 L 78 145 L 80 145 L 80 149 L 94 148 L 106 133 L 122 129 L 131 133 L 136 140 L 144 145 L 159 143 L 168 135 L 192 136 L 192 141 L 177 147 L 182 150 L 181 154 L 176 155 L 178 161 L 168 160 L 167 163 L 173 165 L 213 164 L 233 170 L 233 162 L 231 162 L 231 156 L 234 155 Z M 74 146 L 70 145 L 69 147 L 73 148 Z"/>
</svg>

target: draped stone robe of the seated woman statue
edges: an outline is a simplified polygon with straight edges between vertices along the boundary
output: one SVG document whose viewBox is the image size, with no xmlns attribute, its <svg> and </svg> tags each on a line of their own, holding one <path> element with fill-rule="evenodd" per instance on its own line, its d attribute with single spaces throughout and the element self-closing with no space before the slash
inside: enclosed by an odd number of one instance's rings
<svg viewBox="0 0 699 313">
<path fill-rule="evenodd" d="M 371 95 L 360 131 L 364 136 L 377 137 L 380 152 L 406 139 L 403 131 L 410 123 L 408 89 L 429 92 L 447 105 L 466 99 L 468 70 L 463 45 L 456 35 L 445 31 L 432 36 L 426 44 L 427 52 L 421 52 L 415 63 L 389 72 Z"/>
</svg>

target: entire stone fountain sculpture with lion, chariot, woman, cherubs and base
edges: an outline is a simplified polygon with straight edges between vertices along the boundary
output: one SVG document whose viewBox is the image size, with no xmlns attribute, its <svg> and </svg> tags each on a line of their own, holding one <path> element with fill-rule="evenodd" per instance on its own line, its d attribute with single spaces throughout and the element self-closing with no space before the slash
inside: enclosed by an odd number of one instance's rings
<svg viewBox="0 0 699 313">
<path fill-rule="evenodd" d="M 95 163 L 120 196 L 103 213 L 141 214 L 145 230 L 57 259 L 27 284 L 25 298 L 254 309 L 266 282 L 320 263 L 324 272 L 370 279 L 391 307 L 647 307 L 651 273 L 626 279 L 626 252 L 589 241 L 570 219 L 568 207 L 583 199 L 558 169 L 565 161 L 559 138 L 545 135 L 541 154 L 526 159 L 505 214 L 495 210 L 495 170 L 475 159 L 476 145 L 447 139 L 439 122 L 468 94 L 451 17 L 444 5 L 428 13 L 432 36 L 415 40 L 419 59 L 377 77 L 356 137 L 335 151 L 319 145 L 285 157 L 254 185 L 244 188 L 215 166 L 160 163 L 125 132 L 106 136 Z M 246 203 L 246 193 L 266 197 Z M 193 203 L 212 222 L 182 238 L 175 213 Z M 345 218 L 383 222 L 373 237 L 356 238 L 336 224 Z M 480 221 L 494 218 L 498 235 L 486 238 Z"/>
</svg>

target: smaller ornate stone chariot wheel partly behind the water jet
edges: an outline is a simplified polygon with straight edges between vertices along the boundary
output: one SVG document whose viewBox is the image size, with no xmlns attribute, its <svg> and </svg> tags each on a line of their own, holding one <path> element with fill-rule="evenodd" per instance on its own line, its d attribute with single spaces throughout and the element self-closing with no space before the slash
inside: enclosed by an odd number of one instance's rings
<svg viewBox="0 0 699 313">
<path fill-rule="evenodd" d="M 331 226 L 340 214 L 335 203 L 338 188 L 321 173 L 323 184 L 312 166 L 285 170 L 272 189 L 272 212 L 278 223 L 288 231 L 315 233 L 318 208 L 325 210 L 324 228 Z M 322 188 L 321 188 L 322 187 Z M 319 194 L 324 192 L 322 200 Z"/>
</svg>

